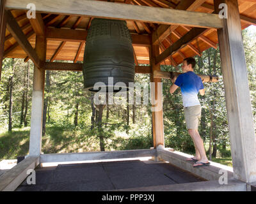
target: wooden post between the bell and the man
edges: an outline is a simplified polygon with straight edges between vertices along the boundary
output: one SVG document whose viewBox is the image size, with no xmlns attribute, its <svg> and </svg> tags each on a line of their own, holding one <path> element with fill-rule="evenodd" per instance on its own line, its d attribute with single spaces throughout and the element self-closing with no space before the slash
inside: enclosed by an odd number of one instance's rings
<svg viewBox="0 0 256 204">
<path fill-rule="evenodd" d="M 159 55 L 159 45 L 152 45 L 150 48 L 150 64 L 152 67 L 150 73 L 150 82 L 154 82 L 155 89 L 151 92 L 152 98 L 152 128 L 153 128 L 153 140 L 154 149 L 164 149 L 164 126 L 163 126 L 163 101 L 162 90 L 159 90 L 157 83 L 161 83 L 161 78 L 154 78 L 154 71 L 160 70 L 160 65 L 156 65 L 156 56 Z M 152 88 L 152 87 L 151 87 Z M 162 88 L 162 86 L 161 86 Z M 161 94 L 159 94 L 159 92 Z M 153 95 L 154 94 L 154 95 Z M 154 111 L 154 109 L 156 110 Z"/>
</svg>

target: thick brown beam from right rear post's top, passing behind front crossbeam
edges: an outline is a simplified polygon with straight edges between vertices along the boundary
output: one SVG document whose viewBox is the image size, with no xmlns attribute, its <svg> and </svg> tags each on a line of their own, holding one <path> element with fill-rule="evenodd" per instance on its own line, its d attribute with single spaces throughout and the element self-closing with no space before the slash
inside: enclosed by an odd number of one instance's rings
<svg viewBox="0 0 256 204">
<path fill-rule="evenodd" d="M 204 0 L 182 0 L 180 3 L 175 7 L 175 10 L 187 10 L 187 11 L 194 11 L 198 8 L 201 4 L 203 4 Z M 152 43 L 156 45 L 158 41 L 163 41 L 167 36 L 170 35 L 175 29 L 177 29 L 179 25 L 173 25 L 170 30 L 169 25 L 160 25 L 157 30 L 152 34 Z"/>
</svg>

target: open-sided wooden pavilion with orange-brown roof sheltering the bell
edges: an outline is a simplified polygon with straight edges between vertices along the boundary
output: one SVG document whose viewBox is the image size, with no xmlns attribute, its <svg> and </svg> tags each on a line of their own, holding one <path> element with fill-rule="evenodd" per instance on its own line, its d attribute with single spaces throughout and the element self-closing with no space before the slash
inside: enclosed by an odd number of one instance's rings
<svg viewBox="0 0 256 204">
<path fill-rule="evenodd" d="M 27 17 L 31 3 L 35 5 L 35 18 Z M 0 73 L 3 57 L 31 59 L 35 64 L 29 155 L 1 175 L 0 191 L 15 190 L 28 176 L 26 170 L 41 163 L 140 156 L 164 159 L 209 180 L 204 182 L 205 190 L 207 186 L 212 191 L 253 189 L 256 143 L 241 30 L 256 25 L 255 0 L 0 0 L 0 4 Z M 227 18 L 220 17 L 223 11 Z M 195 169 L 186 162 L 186 154 L 164 148 L 163 110 L 152 112 L 154 149 L 41 153 L 45 70 L 82 71 L 83 64 L 77 61 L 83 61 L 86 36 L 94 17 L 127 21 L 136 73 L 150 73 L 150 80 L 155 83 L 161 82 L 154 78 L 154 71 L 159 71 L 161 64 L 177 66 L 186 57 L 200 55 L 219 44 L 233 161 L 233 171 L 228 171 L 232 177 L 228 177 L 229 184 L 218 183 L 223 166 L 212 163 Z M 157 105 L 162 106 L 157 91 Z M 196 190 L 192 185 L 190 189 Z"/>
</svg>

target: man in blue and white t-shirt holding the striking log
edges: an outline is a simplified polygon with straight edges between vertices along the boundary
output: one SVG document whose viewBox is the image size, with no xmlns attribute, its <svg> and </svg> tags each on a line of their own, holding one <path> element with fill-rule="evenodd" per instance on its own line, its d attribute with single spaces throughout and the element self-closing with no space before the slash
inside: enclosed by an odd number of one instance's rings
<svg viewBox="0 0 256 204">
<path fill-rule="evenodd" d="M 200 167 L 208 166 L 210 163 L 205 154 L 204 142 L 198 132 L 202 108 L 197 95 L 200 92 L 204 96 L 205 89 L 201 78 L 194 73 L 195 65 L 196 61 L 193 57 L 184 59 L 182 64 L 184 73 L 177 79 L 172 78 L 173 84 L 170 87 L 170 93 L 173 94 L 179 87 L 181 89 L 186 127 L 195 145 L 195 157 L 191 157 L 187 161 L 194 161 L 193 166 Z"/>
</svg>

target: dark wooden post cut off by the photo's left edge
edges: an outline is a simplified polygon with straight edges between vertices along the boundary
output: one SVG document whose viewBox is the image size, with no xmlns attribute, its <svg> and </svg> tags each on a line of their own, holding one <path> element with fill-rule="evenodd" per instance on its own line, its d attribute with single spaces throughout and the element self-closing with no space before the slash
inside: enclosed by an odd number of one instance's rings
<svg viewBox="0 0 256 204">
<path fill-rule="evenodd" d="M 4 38 L 6 31 L 6 15 L 4 10 L 5 0 L 0 0 L 0 82 L 4 55 Z"/>
</svg>

